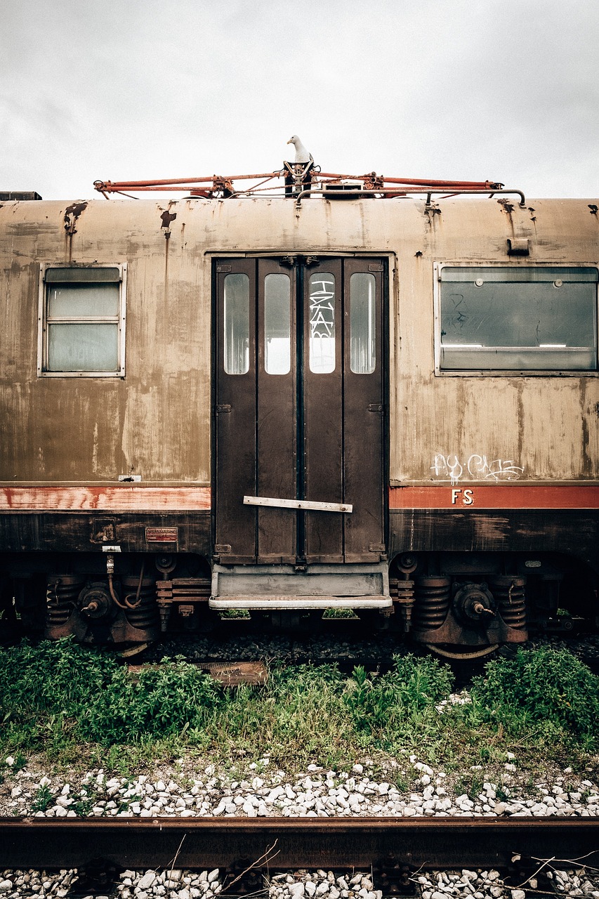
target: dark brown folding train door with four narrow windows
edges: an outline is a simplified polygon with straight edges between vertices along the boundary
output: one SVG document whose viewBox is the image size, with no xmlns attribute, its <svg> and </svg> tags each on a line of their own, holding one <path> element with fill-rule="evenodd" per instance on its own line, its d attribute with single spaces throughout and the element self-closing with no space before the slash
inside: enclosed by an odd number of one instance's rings
<svg viewBox="0 0 599 899">
<path fill-rule="evenodd" d="M 384 275 L 368 258 L 215 265 L 221 565 L 385 552 Z"/>
</svg>

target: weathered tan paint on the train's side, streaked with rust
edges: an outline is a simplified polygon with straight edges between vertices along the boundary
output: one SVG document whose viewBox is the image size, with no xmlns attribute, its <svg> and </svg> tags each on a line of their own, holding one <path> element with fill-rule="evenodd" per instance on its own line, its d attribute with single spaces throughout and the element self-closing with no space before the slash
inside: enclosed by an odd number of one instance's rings
<svg viewBox="0 0 599 899">
<path fill-rule="evenodd" d="M 435 453 L 515 459 L 521 484 L 599 475 L 599 378 L 434 375 L 435 262 L 595 264 L 589 200 L 92 200 L 65 245 L 60 201 L 0 209 L 5 484 L 210 483 L 210 263 L 249 254 L 378 254 L 389 290 L 391 485 L 434 483 Z M 591 210 L 592 212 L 592 210 Z M 508 257 L 506 240 L 531 254 Z M 168 285 L 165 244 L 168 243 Z M 38 378 L 41 262 L 128 263 L 125 378 Z M 165 288 L 168 286 L 168 290 Z"/>
</svg>

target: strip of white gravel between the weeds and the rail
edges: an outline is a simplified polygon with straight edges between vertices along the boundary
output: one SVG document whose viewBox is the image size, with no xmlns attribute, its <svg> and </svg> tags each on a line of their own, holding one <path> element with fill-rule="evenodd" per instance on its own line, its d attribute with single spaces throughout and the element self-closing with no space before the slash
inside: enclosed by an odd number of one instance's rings
<svg viewBox="0 0 599 899">
<path fill-rule="evenodd" d="M 460 701 L 460 696 L 454 698 Z M 243 774 L 217 770 L 214 764 L 192 769 L 164 768 L 152 776 L 112 777 L 103 769 L 85 774 L 45 774 L 33 767 L 13 770 L 4 760 L 0 814 L 60 818 L 76 816 L 140 817 L 596 817 L 599 788 L 570 768 L 520 771 L 512 753 L 505 763 L 485 770 L 472 766 L 449 776 L 409 756 L 399 768 L 389 760 L 385 779 L 373 764 L 356 762 L 350 770 L 326 770 L 316 764 L 291 775 L 268 757 L 246 766 Z M 11 764 L 12 762 L 12 764 Z M 408 784 L 399 788 L 398 783 Z M 464 787 L 467 786 L 467 791 Z M 0 891 L 1 892 L 1 891 Z"/>
</svg>

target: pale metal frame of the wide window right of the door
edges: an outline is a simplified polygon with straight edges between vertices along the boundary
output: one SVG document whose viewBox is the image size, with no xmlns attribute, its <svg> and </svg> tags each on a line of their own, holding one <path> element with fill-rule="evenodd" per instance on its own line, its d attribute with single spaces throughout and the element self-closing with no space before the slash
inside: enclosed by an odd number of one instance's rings
<svg viewBox="0 0 599 899">
<path fill-rule="evenodd" d="M 442 271 L 444 268 L 471 269 L 484 271 L 487 268 L 513 268 L 517 272 L 521 268 L 558 269 L 558 268 L 589 268 L 599 272 L 599 263 L 586 262 L 534 262 L 526 260 L 519 264 L 505 263 L 504 261 L 485 262 L 456 262 L 446 260 L 433 263 L 434 270 L 434 375 L 439 378 L 597 378 L 599 377 L 599 362 L 596 369 L 442 369 L 441 367 L 441 285 Z M 599 357 L 599 282 L 595 282 L 595 348 Z"/>
</svg>

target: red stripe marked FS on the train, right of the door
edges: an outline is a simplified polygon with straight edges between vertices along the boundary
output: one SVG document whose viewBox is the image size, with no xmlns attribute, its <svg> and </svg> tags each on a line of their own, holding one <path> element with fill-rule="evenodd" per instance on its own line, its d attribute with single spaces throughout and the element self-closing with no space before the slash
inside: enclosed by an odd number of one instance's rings
<svg viewBox="0 0 599 899">
<path fill-rule="evenodd" d="M 431 485 L 389 488 L 399 509 L 599 509 L 599 485 Z"/>
</svg>

